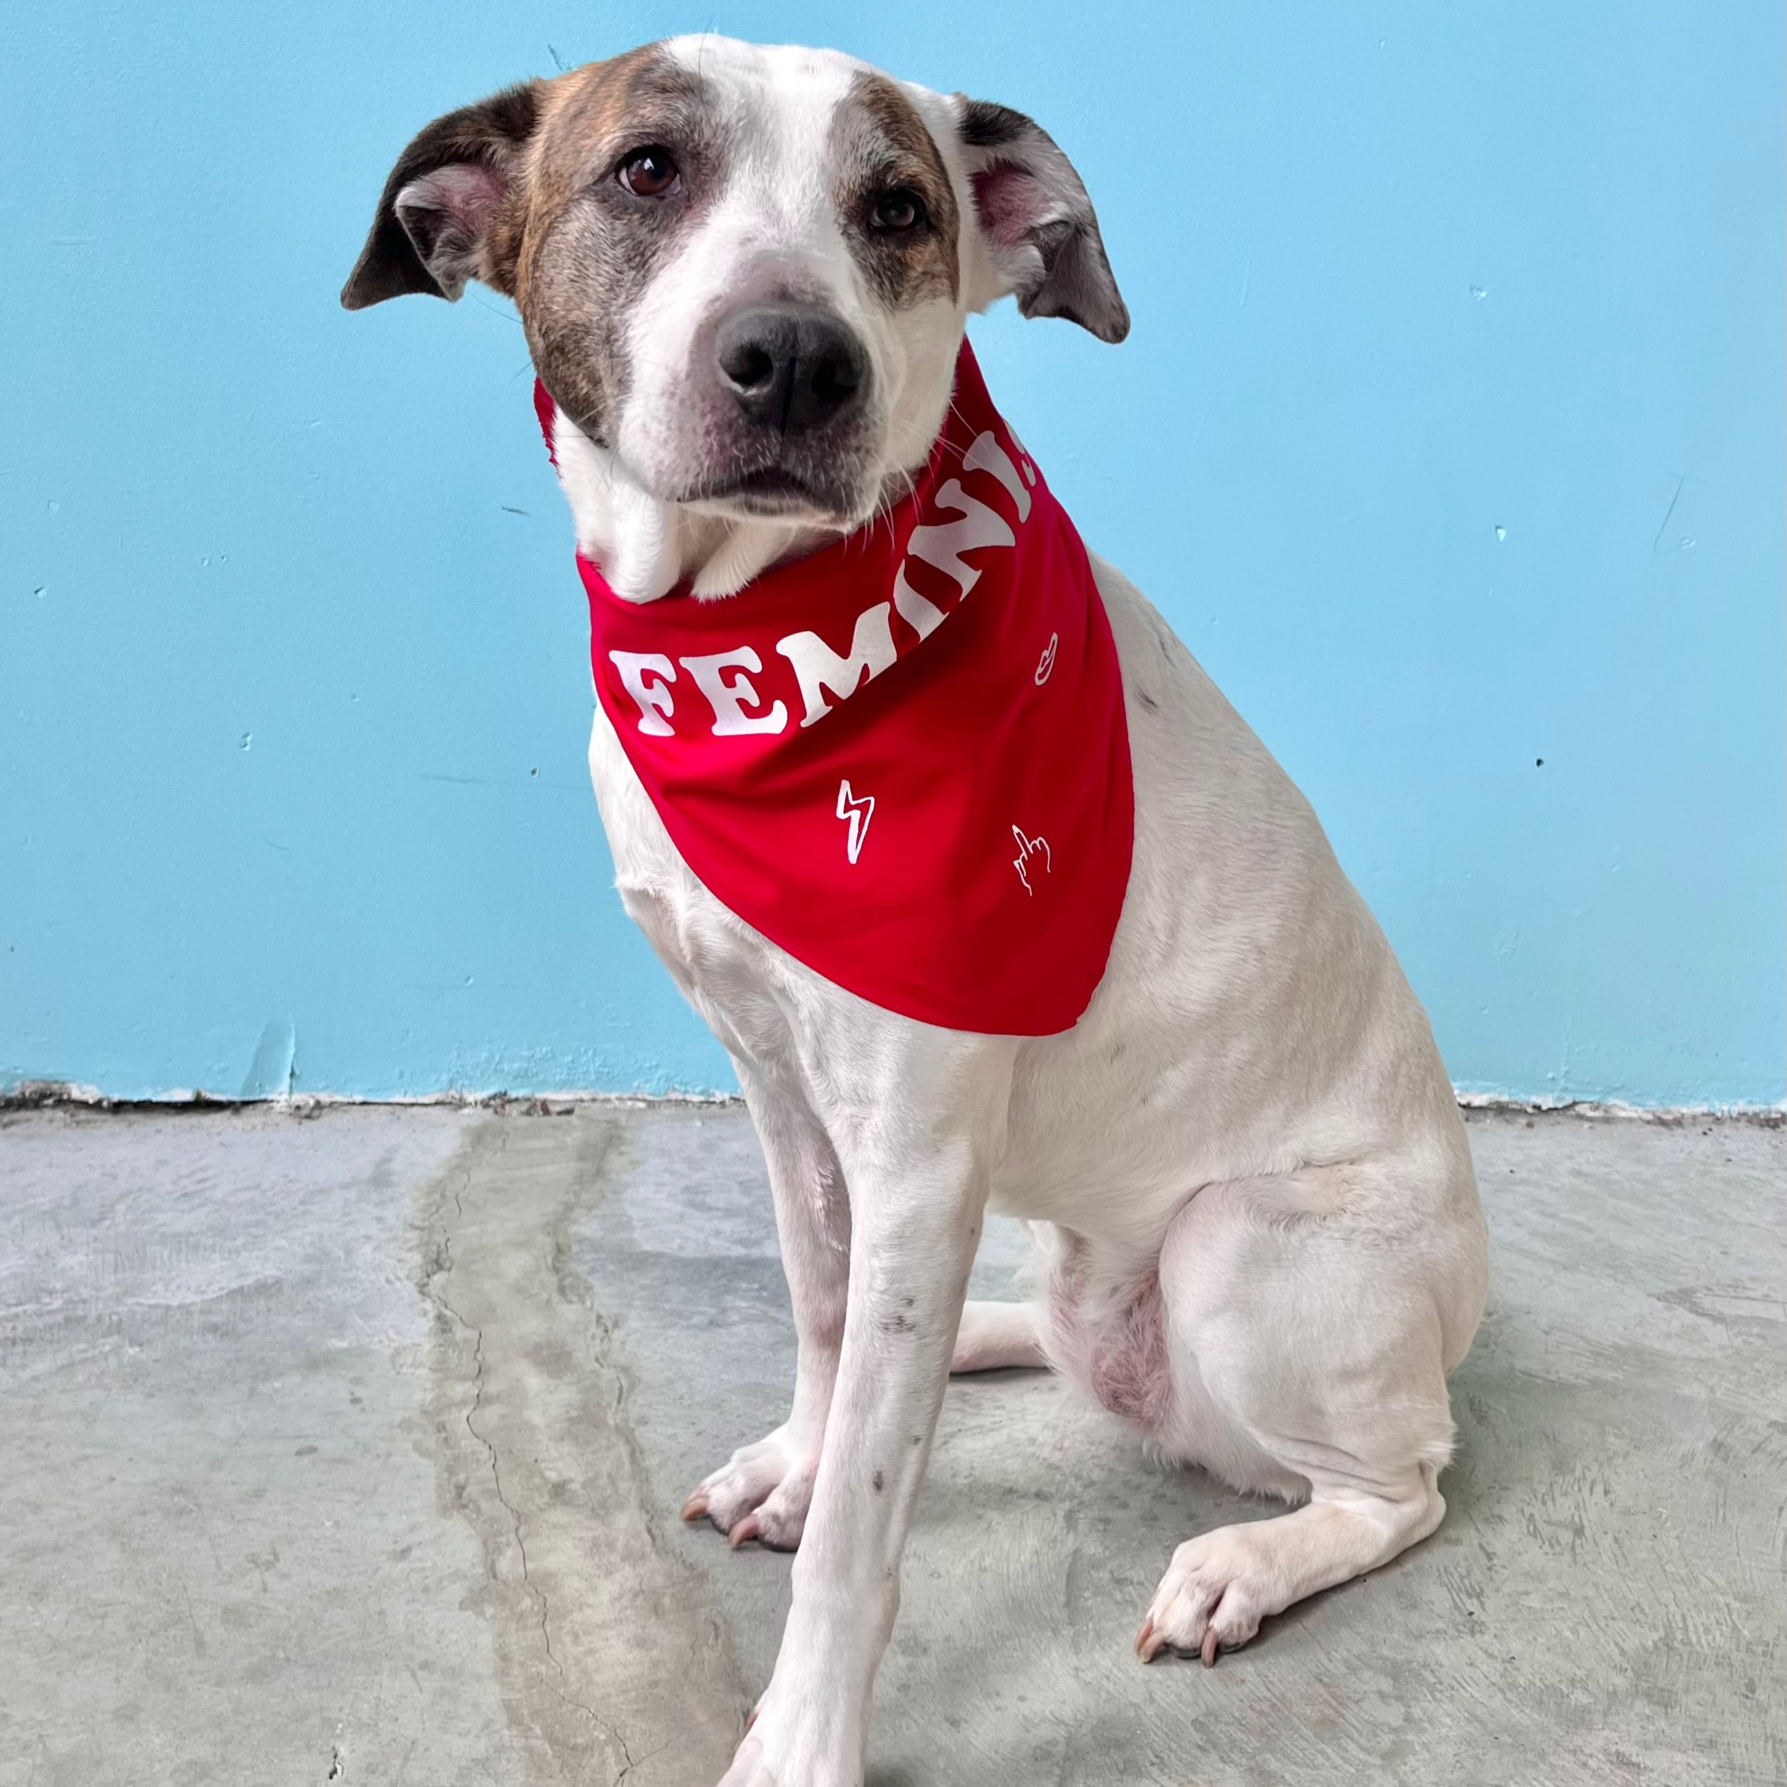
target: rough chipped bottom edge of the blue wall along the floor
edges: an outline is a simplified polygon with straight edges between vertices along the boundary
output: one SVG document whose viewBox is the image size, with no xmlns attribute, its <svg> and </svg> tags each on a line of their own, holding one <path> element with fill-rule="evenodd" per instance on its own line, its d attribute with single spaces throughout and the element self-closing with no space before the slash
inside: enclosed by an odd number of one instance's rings
<svg viewBox="0 0 1787 1787">
<path fill-rule="evenodd" d="M 295 1117 L 313 1115 L 332 1106 L 350 1104 L 445 1104 L 454 1110 L 516 1112 L 533 1117 L 556 1117 L 577 1104 L 606 1104 L 611 1110 L 647 1110 L 654 1104 L 717 1104 L 731 1106 L 745 1101 L 736 1092 L 554 1092 L 549 1095 L 508 1092 L 431 1092 L 413 1099 L 357 1099 L 336 1092 L 297 1092 L 264 1099 L 225 1099 L 209 1092 L 166 1092 L 154 1099 L 113 1099 L 98 1086 L 79 1086 L 63 1079 L 30 1079 L 9 1092 L 0 1092 L 0 1112 L 20 1110 L 102 1110 L 102 1112 L 231 1112 L 270 1106 L 291 1112 Z M 1506 1112 L 1519 1117 L 1573 1115 L 1601 1122 L 1651 1122 L 1674 1128 L 1717 1117 L 1724 1122 L 1760 1124 L 1766 1129 L 1787 1128 L 1783 1104 L 1621 1104 L 1598 1099 L 1510 1099 L 1492 1092 L 1460 1092 L 1458 1106 L 1465 1112 Z"/>
</svg>

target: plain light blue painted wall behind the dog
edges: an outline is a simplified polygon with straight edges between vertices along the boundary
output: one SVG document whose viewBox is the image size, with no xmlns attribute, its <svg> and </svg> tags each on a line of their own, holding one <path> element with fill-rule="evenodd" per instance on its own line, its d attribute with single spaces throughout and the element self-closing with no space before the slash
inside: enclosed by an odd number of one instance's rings
<svg viewBox="0 0 1787 1787">
<path fill-rule="evenodd" d="M 1076 157 L 1135 334 L 990 318 L 994 391 L 1460 1085 L 1782 1097 L 1778 0 L 11 16 L 0 1085 L 729 1085 L 608 885 L 515 318 L 336 309 L 436 113 L 717 25 Z"/>
</svg>

